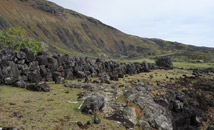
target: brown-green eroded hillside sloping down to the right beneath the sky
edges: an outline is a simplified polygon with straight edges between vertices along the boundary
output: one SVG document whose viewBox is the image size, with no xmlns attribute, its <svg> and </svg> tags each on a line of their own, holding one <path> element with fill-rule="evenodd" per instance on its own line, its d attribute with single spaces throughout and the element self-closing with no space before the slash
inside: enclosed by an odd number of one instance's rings
<svg viewBox="0 0 214 130">
<path fill-rule="evenodd" d="M 134 23 L 133 23 L 134 24 Z M 127 35 L 46 0 L 1 0 L 0 29 L 21 26 L 52 53 L 133 58 L 170 55 L 175 60 L 212 61 L 213 48 Z M 163 30 L 164 31 L 164 30 Z"/>
</svg>

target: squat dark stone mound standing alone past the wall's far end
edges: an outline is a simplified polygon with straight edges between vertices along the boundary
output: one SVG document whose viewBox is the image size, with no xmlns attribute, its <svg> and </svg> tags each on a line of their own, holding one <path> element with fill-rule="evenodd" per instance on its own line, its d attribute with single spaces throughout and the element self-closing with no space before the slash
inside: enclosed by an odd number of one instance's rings
<svg viewBox="0 0 214 130">
<path fill-rule="evenodd" d="M 165 69 L 173 69 L 172 60 L 170 57 L 160 57 L 156 60 L 156 65 Z"/>
</svg>

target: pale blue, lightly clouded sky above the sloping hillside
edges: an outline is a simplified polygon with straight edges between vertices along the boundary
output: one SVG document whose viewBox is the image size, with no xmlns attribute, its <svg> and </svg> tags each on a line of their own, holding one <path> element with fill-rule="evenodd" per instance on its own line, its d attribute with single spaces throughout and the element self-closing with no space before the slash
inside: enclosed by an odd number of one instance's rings
<svg viewBox="0 0 214 130">
<path fill-rule="evenodd" d="M 127 34 L 214 47 L 214 0 L 49 0 Z"/>
</svg>

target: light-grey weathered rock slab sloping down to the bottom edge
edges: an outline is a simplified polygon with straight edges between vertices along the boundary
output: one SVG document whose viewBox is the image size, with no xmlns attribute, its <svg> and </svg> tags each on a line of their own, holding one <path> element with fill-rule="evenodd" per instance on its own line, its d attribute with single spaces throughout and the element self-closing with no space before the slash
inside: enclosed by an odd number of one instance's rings
<svg viewBox="0 0 214 130">
<path fill-rule="evenodd" d="M 143 109 L 140 118 L 140 125 L 143 129 L 173 130 L 170 113 L 166 108 L 155 103 L 144 87 L 133 88 L 124 96 Z"/>
</svg>

